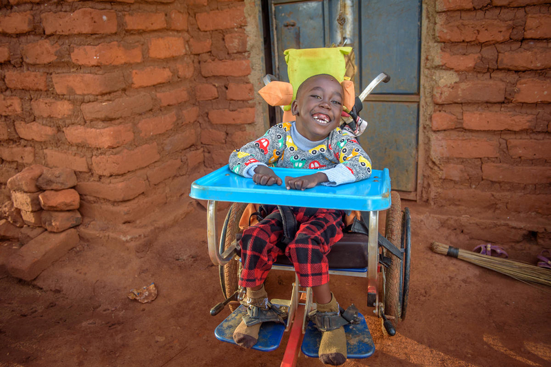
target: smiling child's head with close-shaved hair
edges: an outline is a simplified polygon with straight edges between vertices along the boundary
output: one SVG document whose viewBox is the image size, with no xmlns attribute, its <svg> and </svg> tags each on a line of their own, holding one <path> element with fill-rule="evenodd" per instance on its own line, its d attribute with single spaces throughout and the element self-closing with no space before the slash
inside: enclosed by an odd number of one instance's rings
<svg viewBox="0 0 551 367">
<path fill-rule="evenodd" d="M 335 78 L 318 75 L 302 83 L 291 104 L 300 135 L 312 142 L 324 140 L 340 124 L 342 87 Z"/>
</svg>

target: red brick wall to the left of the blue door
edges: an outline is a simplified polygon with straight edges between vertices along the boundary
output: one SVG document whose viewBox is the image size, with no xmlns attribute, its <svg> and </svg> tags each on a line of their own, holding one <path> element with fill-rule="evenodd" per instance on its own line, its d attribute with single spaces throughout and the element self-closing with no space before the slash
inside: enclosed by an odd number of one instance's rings
<svg viewBox="0 0 551 367">
<path fill-rule="evenodd" d="M 185 210 L 191 181 L 264 130 L 249 80 L 253 1 L 0 5 L 4 197 L 10 177 L 43 164 L 76 171 L 88 219 Z"/>
</svg>

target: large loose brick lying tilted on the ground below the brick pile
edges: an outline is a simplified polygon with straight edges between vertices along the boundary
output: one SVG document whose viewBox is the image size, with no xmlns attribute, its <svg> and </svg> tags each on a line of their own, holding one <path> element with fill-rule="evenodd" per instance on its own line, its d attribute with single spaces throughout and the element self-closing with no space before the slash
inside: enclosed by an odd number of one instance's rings
<svg viewBox="0 0 551 367">
<path fill-rule="evenodd" d="M 79 241 L 79 233 L 76 230 L 61 233 L 44 232 L 10 256 L 8 271 L 17 278 L 33 280 L 78 245 Z"/>
</svg>

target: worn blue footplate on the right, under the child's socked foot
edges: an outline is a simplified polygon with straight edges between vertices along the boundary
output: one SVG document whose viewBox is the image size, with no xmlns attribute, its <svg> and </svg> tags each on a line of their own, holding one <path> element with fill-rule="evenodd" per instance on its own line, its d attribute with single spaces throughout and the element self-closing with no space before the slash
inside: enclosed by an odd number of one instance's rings
<svg viewBox="0 0 551 367">
<path fill-rule="evenodd" d="M 367 358 L 375 353 L 375 344 L 366 324 L 366 319 L 359 313 L 360 323 L 344 325 L 346 333 L 346 353 L 349 358 Z M 322 340 L 322 333 L 309 322 L 302 340 L 302 353 L 308 357 L 318 358 L 318 349 Z"/>
</svg>

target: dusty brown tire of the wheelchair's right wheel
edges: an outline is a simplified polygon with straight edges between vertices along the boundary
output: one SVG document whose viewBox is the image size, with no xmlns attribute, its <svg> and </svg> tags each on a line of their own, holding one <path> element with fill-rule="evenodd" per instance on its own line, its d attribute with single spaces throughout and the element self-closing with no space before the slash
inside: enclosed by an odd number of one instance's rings
<svg viewBox="0 0 551 367">
<path fill-rule="evenodd" d="M 391 192 L 391 208 L 386 212 L 385 237 L 393 245 L 400 248 L 402 241 L 402 206 L 397 192 Z M 384 249 L 384 256 L 392 259 L 391 266 L 383 267 L 385 271 L 384 313 L 394 316 L 393 324 L 397 325 L 402 313 L 402 261 Z"/>
</svg>

